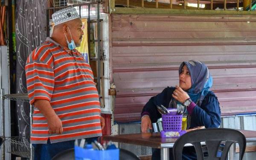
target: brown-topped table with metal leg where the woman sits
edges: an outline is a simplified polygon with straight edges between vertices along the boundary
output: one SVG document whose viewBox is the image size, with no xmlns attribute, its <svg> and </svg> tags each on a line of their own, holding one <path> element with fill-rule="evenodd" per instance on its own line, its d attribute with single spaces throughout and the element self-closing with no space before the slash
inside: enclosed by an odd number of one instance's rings
<svg viewBox="0 0 256 160">
<path fill-rule="evenodd" d="M 256 131 L 238 130 L 246 137 L 246 142 L 256 142 Z M 140 133 L 140 134 L 119 134 L 104 136 L 103 140 L 113 142 L 143 145 L 161 149 L 161 160 L 169 160 L 169 148 L 172 148 L 177 138 L 161 138 L 160 133 Z M 185 146 L 191 146 L 187 144 Z M 236 153 L 236 152 L 235 152 Z"/>
</svg>

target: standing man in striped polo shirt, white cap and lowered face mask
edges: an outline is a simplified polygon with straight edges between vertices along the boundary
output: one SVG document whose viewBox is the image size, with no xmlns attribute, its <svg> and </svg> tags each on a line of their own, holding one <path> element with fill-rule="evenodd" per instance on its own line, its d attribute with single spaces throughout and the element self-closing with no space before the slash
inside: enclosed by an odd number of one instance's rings
<svg viewBox="0 0 256 160">
<path fill-rule="evenodd" d="M 35 105 L 30 138 L 35 160 L 51 160 L 73 148 L 76 139 L 90 143 L 102 136 L 105 125 L 93 72 L 75 49 L 84 34 L 81 19 L 73 7 L 55 12 L 52 19 L 52 37 L 29 55 L 25 67 L 30 104 Z"/>
</svg>

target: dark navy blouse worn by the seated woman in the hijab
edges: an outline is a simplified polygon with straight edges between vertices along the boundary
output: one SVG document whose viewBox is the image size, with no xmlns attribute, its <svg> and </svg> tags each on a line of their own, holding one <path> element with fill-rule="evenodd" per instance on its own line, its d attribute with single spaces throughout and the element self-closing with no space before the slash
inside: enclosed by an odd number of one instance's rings
<svg viewBox="0 0 256 160">
<path fill-rule="evenodd" d="M 157 105 L 168 107 L 175 87 L 167 87 L 157 96 L 151 97 L 145 104 L 141 116 L 148 114 L 151 122 L 157 122 L 161 114 L 157 111 Z M 221 124 L 221 109 L 217 97 L 212 91 L 204 97 L 201 106 L 196 105 L 191 114 L 190 128 L 205 126 L 205 128 L 218 128 Z"/>
</svg>

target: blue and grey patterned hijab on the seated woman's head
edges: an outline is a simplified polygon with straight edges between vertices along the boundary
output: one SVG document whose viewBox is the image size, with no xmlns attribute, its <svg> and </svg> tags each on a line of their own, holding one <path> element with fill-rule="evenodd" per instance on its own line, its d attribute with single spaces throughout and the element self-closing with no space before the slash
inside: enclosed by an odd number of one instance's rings
<svg viewBox="0 0 256 160">
<path fill-rule="evenodd" d="M 191 76 L 191 88 L 186 90 L 186 92 L 193 102 L 201 106 L 204 97 L 208 94 L 210 87 L 212 87 L 212 76 L 203 62 L 194 60 L 182 62 L 179 74 L 184 65 L 188 68 Z"/>
</svg>

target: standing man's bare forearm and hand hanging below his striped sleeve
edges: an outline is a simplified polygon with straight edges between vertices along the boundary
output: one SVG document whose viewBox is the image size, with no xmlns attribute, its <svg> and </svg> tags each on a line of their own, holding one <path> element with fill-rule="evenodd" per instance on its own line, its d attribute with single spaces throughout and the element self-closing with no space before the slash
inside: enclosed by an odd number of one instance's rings
<svg viewBox="0 0 256 160">
<path fill-rule="evenodd" d="M 63 128 L 61 119 L 52 109 L 50 102 L 44 99 L 36 99 L 34 105 L 47 119 L 49 134 L 62 134 Z"/>
</svg>

